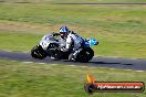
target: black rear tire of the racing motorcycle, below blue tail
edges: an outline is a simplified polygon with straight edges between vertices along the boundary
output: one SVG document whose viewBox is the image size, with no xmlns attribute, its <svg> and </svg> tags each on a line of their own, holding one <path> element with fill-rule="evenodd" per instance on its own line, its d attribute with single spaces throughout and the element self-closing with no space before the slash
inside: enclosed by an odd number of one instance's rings
<svg viewBox="0 0 146 97">
<path fill-rule="evenodd" d="M 94 51 L 91 47 L 88 47 L 88 48 L 82 50 L 76 55 L 75 61 L 81 63 L 86 63 L 91 61 L 93 56 L 94 56 Z"/>
</svg>

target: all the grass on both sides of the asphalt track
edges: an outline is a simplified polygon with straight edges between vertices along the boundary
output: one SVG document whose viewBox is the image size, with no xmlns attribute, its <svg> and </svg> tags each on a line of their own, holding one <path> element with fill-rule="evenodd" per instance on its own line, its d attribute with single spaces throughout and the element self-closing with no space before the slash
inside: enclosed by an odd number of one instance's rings
<svg viewBox="0 0 146 97">
<path fill-rule="evenodd" d="M 2 0 L 1 0 L 2 1 Z M 40 39 L 67 25 L 83 37 L 96 37 L 96 55 L 146 58 L 145 6 L 59 6 L 59 0 L 0 2 L 0 50 L 30 52 Z M 14 3 L 14 2 L 33 3 Z M 75 0 L 67 0 L 74 2 Z M 90 2 L 76 0 L 75 2 Z M 92 2 L 145 0 L 92 0 Z M 60 1 L 63 2 L 63 1 Z M 146 83 L 146 72 L 76 67 L 0 60 L 0 97 L 88 97 L 83 84 L 87 72 L 95 79 Z M 146 93 L 97 93 L 90 97 L 145 97 Z"/>
</svg>

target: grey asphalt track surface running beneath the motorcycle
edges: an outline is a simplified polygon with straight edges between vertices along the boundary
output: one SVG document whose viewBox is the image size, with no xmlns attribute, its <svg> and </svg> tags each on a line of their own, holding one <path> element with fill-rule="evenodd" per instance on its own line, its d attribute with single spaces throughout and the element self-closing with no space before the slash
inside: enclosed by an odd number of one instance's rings
<svg viewBox="0 0 146 97">
<path fill-rule="evenodd" d="M 93 57 L 93 60 L 90 61 L 88 63 L 77 63 L 77 62 L 69 62 L 69 61 L 55 61 L 50 57 L 46 57 L 45 60 L 35 60 L 35 58 L 32 58 L 29 53 L 8 52 L 8 51 L 0 51 L 0 58 L 9 60 L 9 61 L 20 61 L 20 62 L 146 71 L 146 60 L 134 60 L 134 58 L 132 60 L 132 58 L 119 58 L 119 57 L 115 57 L 115 58 L 114 57 Z"/>
</svg>

